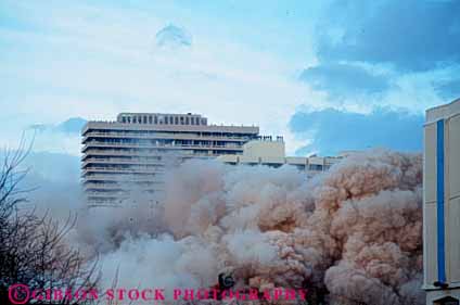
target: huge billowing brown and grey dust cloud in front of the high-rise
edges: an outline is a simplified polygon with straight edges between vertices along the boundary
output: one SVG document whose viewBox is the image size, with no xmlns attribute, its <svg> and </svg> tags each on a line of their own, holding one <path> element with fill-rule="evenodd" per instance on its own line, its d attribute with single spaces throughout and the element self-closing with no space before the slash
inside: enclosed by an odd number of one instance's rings
<svg viewBox="0 0 460 305">
<path fill-rule="evenodd" d="M 191 161 L 166 180 L 154 207 L 85 217 L 106 284 L 119 270 L 120 287 L 206 288 L 231 270 L 237 288 L 306 288 L 330 304 L 424 302 L 420 155 L 358 153 L 312 179 Z"/>
</svg>

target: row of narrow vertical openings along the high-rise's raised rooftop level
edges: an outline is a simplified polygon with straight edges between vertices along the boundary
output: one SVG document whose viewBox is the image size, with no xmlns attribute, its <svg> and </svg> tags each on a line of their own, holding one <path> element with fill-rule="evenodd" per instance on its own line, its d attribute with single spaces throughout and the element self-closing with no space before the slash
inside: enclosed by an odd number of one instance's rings
<svg viewBox="0 0 460 305">
<path fill-rule="evenodd" d="M 204 117 L 177 115 L 129 115 L 122 116 L 122 123 L 158 124 L 158 125 L 207 125 Z"/>
</svg>

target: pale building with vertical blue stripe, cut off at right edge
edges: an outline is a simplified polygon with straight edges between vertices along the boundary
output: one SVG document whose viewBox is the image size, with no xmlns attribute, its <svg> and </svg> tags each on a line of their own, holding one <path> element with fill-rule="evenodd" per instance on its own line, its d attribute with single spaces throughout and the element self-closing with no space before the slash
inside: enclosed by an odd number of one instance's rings
<svg viewBox="0 0 460 305">
<path fill-rule="evenodd" d="M 460 301 L 460 100 L 426 111 L 423 168 L 426 304 Z"/>
</svg>

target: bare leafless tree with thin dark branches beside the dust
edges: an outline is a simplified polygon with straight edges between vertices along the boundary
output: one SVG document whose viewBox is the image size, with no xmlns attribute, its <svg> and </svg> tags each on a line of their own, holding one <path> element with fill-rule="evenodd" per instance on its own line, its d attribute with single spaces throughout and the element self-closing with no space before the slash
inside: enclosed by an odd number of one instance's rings
<svg viewBox="0 0 460 305">
<path fill-rule="evenodd" d="M 23 205 L 29 191 L 20 188 L 28 171 L 20 168 L 29 152 L 24 147 L 21 141 L 17 151 L 5 153 L 0 171 L 0 304 L 11 304 L 9 292 L 27 297 L 23 288 L 9 291 L 15 284 L 28 287 L 28 296 L 39 292 L 35 304 L 97 303 L 84 295 L 97 288 L 97 263 L 88 266 L 65 240 L 76 216 L 60 223 Z"/>
</svg>

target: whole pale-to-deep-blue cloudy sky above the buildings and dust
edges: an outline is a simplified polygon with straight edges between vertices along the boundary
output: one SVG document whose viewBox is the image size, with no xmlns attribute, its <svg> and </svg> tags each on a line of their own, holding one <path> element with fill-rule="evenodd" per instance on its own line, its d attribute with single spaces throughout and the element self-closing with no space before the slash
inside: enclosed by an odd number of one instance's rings
<svg viewBox="0 0 460 305">
<path fill-rule="evenodd" d="M 420 134 L 369 143 L 331 122 L 371 132 L 395 117 L 413 134 L 426 107 L 460 97 L 459 3 L 4 0 L 1 144 L 34 124 L 139 111 L 256 124 L 290 153 L 420 150 Z M 36 148 L 77 154 L 78 135 L 50 131 Z"/>
</svg>

